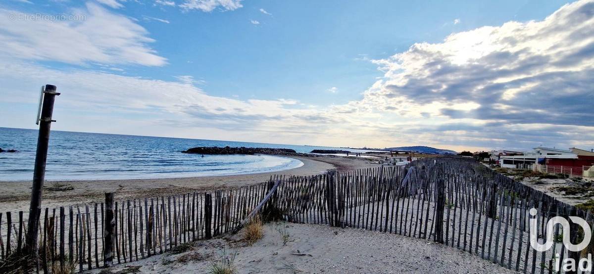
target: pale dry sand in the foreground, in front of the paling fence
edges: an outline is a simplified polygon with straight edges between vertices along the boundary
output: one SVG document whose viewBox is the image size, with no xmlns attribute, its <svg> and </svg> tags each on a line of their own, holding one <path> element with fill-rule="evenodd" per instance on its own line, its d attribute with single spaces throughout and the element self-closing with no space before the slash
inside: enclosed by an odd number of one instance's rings
<svg viewBox="0 0 594 274">
<path fill-rule="evenodd" d="M 282 233 L 288 235 L 283 243 Z M 103 273 L 208 273 L 225 250 L 238 273 L 514 273 L 478 256 L 397 234 L 281 222 L 252 246 L 237 235 L 197 241 L 191 251 L 118 265 Z M 100 270 L 93 270 L 98 273 Z M 132 273 L 132 272 L 120 272 Z"/>
</svg>

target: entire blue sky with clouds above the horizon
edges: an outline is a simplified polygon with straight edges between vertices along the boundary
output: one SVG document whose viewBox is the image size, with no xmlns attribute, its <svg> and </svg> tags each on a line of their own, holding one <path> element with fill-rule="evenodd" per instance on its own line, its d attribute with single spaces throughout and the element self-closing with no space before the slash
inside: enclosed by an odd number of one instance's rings
<svg viewBox="0 0 594 274">
<path fill-rule="evenodd" d="M 594 1 L 6 0 L 0 127 L 594 148 Z M 1 130 L 1 129 L 0 129 Z"/>
</svg>

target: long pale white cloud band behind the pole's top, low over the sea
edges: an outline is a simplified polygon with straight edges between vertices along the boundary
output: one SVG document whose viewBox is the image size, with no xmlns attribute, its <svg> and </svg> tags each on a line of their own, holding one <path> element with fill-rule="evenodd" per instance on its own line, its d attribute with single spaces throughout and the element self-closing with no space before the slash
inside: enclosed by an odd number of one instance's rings
<svg viewBox="0 0 594 274">
<path fill-rule="evenodd" d="M 277 135 L 274 138 L 280 141 L 283 137 L 303 136 L 303 132 L 312 136 L 317 134 L 315 128 L 318 126 L 301 130 L 307 125 L 304 119 L 328 119 L 314 110 L 293 108 L 295 100 L 238 100 L 208 95 L 195 87 L 194 79 L 187 76 L 178 77 L 179 81 L 162 81 L 94 71 L 62 71 L 33 63 L 0 60 L 0 81 L 7 83 L 0 90 L 0 95 L 9 98 L 8 101 L 34 102 L 36 88 L 31 88 L 30 83 L 46 83 L 48 79 L 62 93 L 59 104 L 56 103 L 55 117 L 60 119 L 61 126 L 69 122 L 78 130 L 98 130 L 97 126 L 108 132 L 121 128 L 122 133 L 132 133 L 134 128 L 144 128 L 143 134 L 188 131 L 187 136 L 196 136 L 198 127 L 211 132 L 203 135 L 204 138 L 222 139 L 227 136 L 257 141 Z M 105 120 L 92 126 L 85 122 L 87 116 L 100 116 L 106 112 L 113 117 L 108 119 L 109 122 Z M 84 116 L 78 113 L 84 113 Z M 5 116 L 7 119 L 20 117 L 8 110 L 0 110 L 0 114 L 8 115 Z M 130 119 L 132 114 L 146 119 Z M 114 122 L 117 120 L 125 122 L 118 124 Z M 152 131 L 150 128 L 153 127 L 160 130 Z M 194 133 L 190 133 L 189 128 L 194 128 Z M 286 132 L 279 136 L 279 130 Z M 214 132 L 219 135 L 214 135 Z"/>
</svg>

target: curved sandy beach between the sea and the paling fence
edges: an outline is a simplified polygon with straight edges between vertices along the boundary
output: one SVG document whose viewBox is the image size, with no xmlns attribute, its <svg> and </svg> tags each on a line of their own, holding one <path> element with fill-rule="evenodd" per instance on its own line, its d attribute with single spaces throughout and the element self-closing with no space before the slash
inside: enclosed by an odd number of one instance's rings
<svg viewBox="0 0 594 274">
<path fill-rule="evenodd" d="M 84 180 L 84 181 L 46 181 L 43 192 L 43 207 L 78 205 L 102 202 L 104 193 L 115 192 L 117 199 L 156 197 L 227 189 L 237 186 L 261 183 L 274 174 L 282 176 L 307 176 L 324 173 L 327 170 L 355 170 L 377 167 L 377 164 L 352 157 L 323 156 L 296 158 L 304 163 L 302 167 L 273 173 L 242 174 L 230 176 L 189 177 L 175 179 L 137 179 L 137 180 Z M 31 197 L 31 181 L 0 181 L 0 212 L 28 211 Z"/>
</svg>

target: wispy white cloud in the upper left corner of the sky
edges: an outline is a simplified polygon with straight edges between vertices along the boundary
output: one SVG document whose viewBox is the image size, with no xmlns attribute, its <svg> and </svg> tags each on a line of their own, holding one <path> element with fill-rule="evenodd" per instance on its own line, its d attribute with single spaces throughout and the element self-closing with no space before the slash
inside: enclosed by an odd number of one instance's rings
<svg viewBox="0 0 594 274">
<path fill-rule="evenodd" d="M 83 21 L 10 21 L 0 9 L 0 56 L 85 64 L 165 65 L 148 44 L 149 32 L 124 15 L 92 2 L 81 11 Z"/>
</svg>

